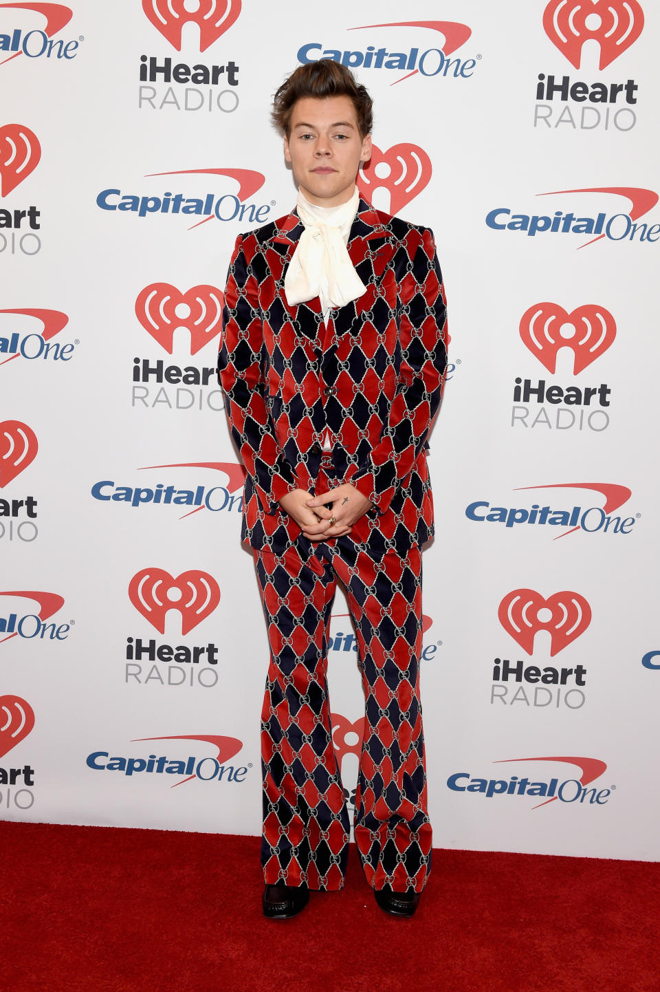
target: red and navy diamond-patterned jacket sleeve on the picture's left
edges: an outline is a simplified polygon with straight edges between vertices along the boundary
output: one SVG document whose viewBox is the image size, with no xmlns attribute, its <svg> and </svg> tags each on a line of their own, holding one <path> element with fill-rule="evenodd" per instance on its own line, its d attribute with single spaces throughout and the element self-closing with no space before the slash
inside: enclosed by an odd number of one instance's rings
<svg viewBox="0 0 660 992">
<path fill-rule="evenodd" d="M 278 509 L 277 500 L 298 485 L 277 443 L 267 406 L 262 366 L 264 319 L 257 280 L 250 272 L 240 235 L 225 289 L 218 378 L 234 441 L 262 508 L 273 514 Z"/>
</svg>

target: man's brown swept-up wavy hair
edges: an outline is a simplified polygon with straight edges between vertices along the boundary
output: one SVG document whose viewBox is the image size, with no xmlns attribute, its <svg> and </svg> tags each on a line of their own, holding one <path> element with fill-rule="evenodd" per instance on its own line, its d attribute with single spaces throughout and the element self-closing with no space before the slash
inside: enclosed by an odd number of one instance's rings
<svg viewBox="0 0 660 992">
<path fill-rule="evenodd" d="M 298 65 L 285 79 L 273 98 L 273 121 L 275 127 L 287 138 L 290 136 L 291 114 L 297 100 L 305 96 L 323 99 L 325 96 L 348 96 L 353 101 L 358 117 L 360 137 L 372 133 L 374 115 L 373 100 L 366 86 L 355 80 L 353 72 L 340 62 L 320 59 L 307 65 Z"/>
</svg>

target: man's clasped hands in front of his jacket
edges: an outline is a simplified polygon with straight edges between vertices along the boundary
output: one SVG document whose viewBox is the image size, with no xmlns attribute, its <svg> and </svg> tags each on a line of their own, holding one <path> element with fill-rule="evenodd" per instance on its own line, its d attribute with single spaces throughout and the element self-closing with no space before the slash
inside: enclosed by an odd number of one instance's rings
<svg viewBox="0 0 660 992">
<path fill-rule="evenodd" d="M 278 502 L 310 541 L 328 541 L 350 534 L 356 520 L 372 506 L 371 500 L 349 482 L 319 496 L 294 489 Z"/>
</svg>

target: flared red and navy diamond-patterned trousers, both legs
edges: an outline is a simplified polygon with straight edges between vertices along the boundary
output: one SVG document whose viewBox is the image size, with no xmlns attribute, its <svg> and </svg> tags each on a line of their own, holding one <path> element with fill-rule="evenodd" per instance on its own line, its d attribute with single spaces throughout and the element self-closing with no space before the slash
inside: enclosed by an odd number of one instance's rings
<svg viewBox="0 0 660 992">
<path fill-rule="evenodd" d="M 344 884 L 349 814 L 332 740 L 330 612 L 339 580 L 366 696 L 355 840 L 375 889 L 420 892 L 431 865 L 422 713 L 421 552 L 374 560 L 350 536 L 254 551 L 271 647 L 262 713 L 267 884 Z"/>
</svg>

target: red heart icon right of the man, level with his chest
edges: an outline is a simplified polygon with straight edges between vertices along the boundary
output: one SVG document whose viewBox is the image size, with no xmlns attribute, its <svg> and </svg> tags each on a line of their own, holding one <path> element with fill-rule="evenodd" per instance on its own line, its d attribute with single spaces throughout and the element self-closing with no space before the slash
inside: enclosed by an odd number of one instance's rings
<svg viewBox="0 0 660 992">
<path fill-rule="evenodd" d="M 615 336 L 613 316 L 597 304 L 570 313 L 558 304 L 534 304 L 520 318 L 523 343 L 553 375 L 561 348 L 573 352 L 573 374 L 578 375 L 605 353 Z"/>
</svg>

